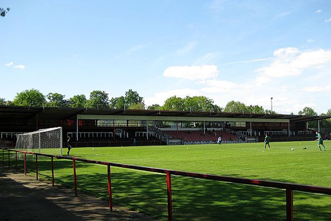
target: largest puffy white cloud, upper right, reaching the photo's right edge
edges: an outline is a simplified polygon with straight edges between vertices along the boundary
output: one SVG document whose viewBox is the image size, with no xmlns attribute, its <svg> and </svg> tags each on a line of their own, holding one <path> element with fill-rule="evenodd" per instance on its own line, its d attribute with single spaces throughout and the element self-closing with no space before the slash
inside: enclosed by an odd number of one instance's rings
<svg viewBox="0 0 331 221">
<path fill-rule="evenodd" d="M 331 62 L 331 50 L 301 52 L 298 48 L 281 48 L 274 51 L 273 62 L 255 72 L 260 73 L 256 79 L 257 86 L 267 83 L 271 78 L 300 75 L 305 69 L 320 67 Z"/>
</svg>

